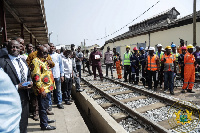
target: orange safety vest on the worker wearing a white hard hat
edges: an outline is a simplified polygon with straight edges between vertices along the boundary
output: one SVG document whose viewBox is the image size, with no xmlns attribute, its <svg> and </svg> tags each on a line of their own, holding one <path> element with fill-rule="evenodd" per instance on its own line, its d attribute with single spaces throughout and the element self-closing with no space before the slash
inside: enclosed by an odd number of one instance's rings
<svg viewBox="0 0 200 133">
<path fill-rule="evenodd" d="M 152 58 L 150 57 L 150 55 L 148 55 L 148 57 L 147 57 L 147 62 L 148 62 L 148 68 L 147 68 L 147 70 L 150 70 L 150 71 L 156 71 L 156 70 L 158 70 L 158 66 L 156 64 L 156 60 L 158 58 L 159 57 L 157 55 L 154 55 Z"/>
</svg>

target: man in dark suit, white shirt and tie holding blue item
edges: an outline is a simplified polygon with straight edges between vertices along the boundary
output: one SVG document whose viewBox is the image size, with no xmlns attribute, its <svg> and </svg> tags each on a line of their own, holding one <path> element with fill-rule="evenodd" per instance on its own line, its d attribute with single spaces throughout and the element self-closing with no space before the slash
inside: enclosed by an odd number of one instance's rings
<svg viewBox="0 0 200 133">
<path fill-rule="evenodd" d="M 8 74 L 15 85 L 21 99 L 22 113 L 20 120 L 20 133 L 27 132 L 29 116 L 28 89 L 32 87 L 31 74 L 26 61 L 20 58 L 20 44 L 16 40 L 8 42 L 8 55 L 0 58 L 0 67 Z M 29 85 L 23 83 L 30 81 Z"/>
</svg>

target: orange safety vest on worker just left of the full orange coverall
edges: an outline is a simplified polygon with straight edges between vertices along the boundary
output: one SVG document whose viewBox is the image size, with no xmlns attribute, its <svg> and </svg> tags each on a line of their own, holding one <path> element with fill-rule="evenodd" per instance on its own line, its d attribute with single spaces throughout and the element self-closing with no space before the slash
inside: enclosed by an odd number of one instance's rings
<svg viewBox="0 0 200 133">
<path fill-rule="evenodd" d="M 176 55 L 166 55 L 162 56 L 162 60 L 166 59 L 164 62 L 164 71 L 174 71 L 174 61 L 176 60 Z"/>
</svg>

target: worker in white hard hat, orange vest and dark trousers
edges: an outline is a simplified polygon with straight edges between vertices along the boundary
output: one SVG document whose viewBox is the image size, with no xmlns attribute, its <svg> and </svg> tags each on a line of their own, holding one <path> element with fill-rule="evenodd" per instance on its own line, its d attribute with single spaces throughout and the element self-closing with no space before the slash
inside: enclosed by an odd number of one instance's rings
<svg viewBox="0 0 200 133">
<path fill-rule="evenodd" d="M 149 55 L 147 56 L 145 70 L 148 75 L 148 89 L 152 89 L 152 77 L 154 81 L 154 91 L 157 91 L 158 86 L 158 71 L 160 70 L 160 59 L 154 54 L 155 48 L 149 48 Z"/>
</svg>

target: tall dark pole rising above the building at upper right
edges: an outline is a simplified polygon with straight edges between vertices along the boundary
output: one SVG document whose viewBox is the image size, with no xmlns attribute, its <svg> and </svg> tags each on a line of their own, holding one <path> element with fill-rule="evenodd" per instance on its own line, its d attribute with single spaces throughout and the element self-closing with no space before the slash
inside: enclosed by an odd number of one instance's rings
<svg viewBox="0 0 200 133">
<path fill-rule="evenodd" d="M 193 3 L 193 45 L 196 46 L 196 0 Z"/>
</svg>

